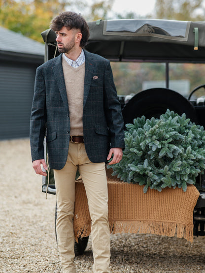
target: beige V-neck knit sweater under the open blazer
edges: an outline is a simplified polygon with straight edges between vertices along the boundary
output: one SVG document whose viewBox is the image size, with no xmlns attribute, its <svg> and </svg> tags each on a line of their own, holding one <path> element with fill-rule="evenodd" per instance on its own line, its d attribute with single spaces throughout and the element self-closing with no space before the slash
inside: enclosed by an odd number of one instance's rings
<svg viewBox="0 0 205 273">
<path fill-rule="evenodd" d="M 70 116 L 70 136 L 83 136 L 83 94 L 85 62 L 74 68 L 62 58 L 68 107 Z"/>
</svg>

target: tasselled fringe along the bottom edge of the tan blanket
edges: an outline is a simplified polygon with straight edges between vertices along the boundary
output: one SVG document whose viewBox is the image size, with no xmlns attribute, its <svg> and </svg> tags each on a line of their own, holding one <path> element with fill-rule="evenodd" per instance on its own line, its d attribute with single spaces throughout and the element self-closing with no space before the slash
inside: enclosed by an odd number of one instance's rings
<svg viewBox="0 0 205 273">
<path fill-rule="evenodd" d="M 164 236 L 177 236 L 193 242 L 193 226 L 173 222 L 161 221 L 109 221 L 110 233 L 138 233 L 138 234 L 156 234 Z M 91 233 L 91 222 L 75 228 L 75 240 L 79 237 L 89 236 Z"/>
</svg>

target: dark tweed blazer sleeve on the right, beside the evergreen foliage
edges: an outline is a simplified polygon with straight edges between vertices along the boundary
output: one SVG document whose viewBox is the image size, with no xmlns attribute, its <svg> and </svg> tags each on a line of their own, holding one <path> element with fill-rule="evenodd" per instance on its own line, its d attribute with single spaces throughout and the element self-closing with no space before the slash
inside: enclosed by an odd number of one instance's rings
<svg viewBox="0 0 205 273">
<path fill-rule="evenodd" d="M 124 149 L 124 121 L 109 61 L 104 72 L 104 111 L 110 132 L 110 147 Z"/>
</svg>

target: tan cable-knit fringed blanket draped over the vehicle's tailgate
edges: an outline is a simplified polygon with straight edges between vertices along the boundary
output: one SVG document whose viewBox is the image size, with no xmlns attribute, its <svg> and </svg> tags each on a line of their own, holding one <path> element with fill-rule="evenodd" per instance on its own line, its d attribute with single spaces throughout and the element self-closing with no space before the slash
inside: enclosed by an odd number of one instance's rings
<svg viewBox="0 0 205 273">
<path fill-rule="evenodd" d="M 161 192 L 108 178 L 110 233 L 151 233 L 177 236 L 193 242 L 193 210 L 199 197 L 194 185 L 183 192 L 165 188 Z M 75 238 L 89 236 L 91 218 L 82 180 L 75 182 Z"/>
</svg>

